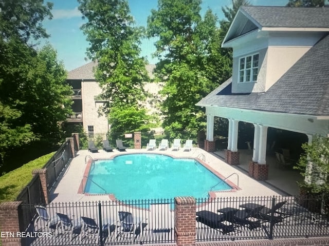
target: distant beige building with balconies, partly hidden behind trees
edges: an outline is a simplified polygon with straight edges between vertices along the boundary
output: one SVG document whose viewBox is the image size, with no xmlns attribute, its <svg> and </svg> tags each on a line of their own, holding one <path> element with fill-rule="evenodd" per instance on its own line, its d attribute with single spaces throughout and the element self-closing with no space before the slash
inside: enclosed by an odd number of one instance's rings
<svg viewBox="0 0 329 246">
<path fill-rule="evenodd" d="M 71 96 L 74 115 L 67 118 L 67 124 L 81 124 L 89 138 L 94 138 L 96 135 L 105 138 L 111 126 L 108 124 L 107 116 L 101 110 L 104 100 L 99 96 L 102 89 L 95 80 L 95 66 L 94 62 L 90 62 L 68 72 L 66 81 L 74 91 L 74 95 Z M 153 78 L 154 68 L 154 65 L 146 67 L 150 78 Z M 160 90 L 160 85 L 145 83 L 145 90 L 155 95 Z M 148 102 L 145 104 L 149 108 L 154 108 Z"/>
</svg>

